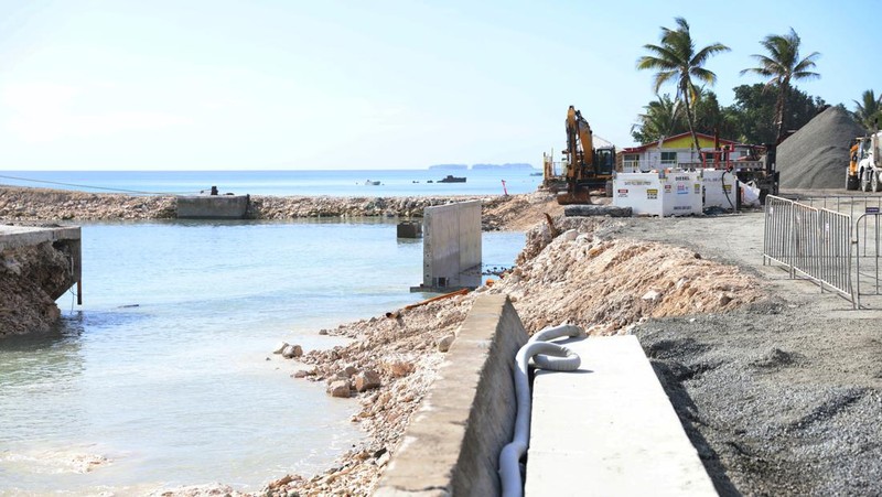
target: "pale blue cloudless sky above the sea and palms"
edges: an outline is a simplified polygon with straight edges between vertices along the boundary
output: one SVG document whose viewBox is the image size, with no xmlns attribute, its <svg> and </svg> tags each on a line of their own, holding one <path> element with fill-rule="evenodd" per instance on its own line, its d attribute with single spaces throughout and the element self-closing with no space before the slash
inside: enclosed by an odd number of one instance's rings
<svg viewBox="0 0 882 497">
<path fill-rule="evenodd" d="M 736 4 L 736 7 L 735 7 Z M 833 7 L 831 7 L 833 6 Z M 541 164 L 567 108 L 634 145 L 638 72 L 675 17 L 720 104 L 761 83 L 760 41 L 802 37 L 853 109 L 882 94 L 876 1 L 0 0 L 0 170 L 423 169 Z M 873 85 L 876 85 L 875 87 Z M 673 87 L 662 93 L 674 94 Z"/>
</svg>

